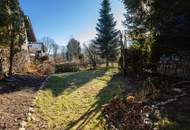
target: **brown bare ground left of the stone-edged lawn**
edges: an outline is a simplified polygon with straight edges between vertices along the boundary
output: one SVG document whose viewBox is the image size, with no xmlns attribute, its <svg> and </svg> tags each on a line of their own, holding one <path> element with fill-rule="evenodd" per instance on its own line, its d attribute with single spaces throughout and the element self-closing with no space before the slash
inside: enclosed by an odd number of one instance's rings
<svg viewBox="0 0 190 130">
<path fill-rule="evenodd" d="M 35 93 L 45 77 L 15 76 L 14 82 L 0 82 L 0 130 L 18 130 L 33 105 Z"/>
</svg>

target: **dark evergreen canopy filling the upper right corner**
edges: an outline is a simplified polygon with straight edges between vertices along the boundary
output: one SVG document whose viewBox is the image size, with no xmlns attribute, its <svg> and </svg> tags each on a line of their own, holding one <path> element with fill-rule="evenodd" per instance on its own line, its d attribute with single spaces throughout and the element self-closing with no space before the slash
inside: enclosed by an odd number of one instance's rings
<svg viewBox="0 0 190 130">
<path fill-rule="evenodd" d="M 142 46 L 149 44 L 154 61 L 162 54 L 179 54 L 190 49 L 188 0 L 123 0 L 123 3 L 129 37 Z"/>
</svg>

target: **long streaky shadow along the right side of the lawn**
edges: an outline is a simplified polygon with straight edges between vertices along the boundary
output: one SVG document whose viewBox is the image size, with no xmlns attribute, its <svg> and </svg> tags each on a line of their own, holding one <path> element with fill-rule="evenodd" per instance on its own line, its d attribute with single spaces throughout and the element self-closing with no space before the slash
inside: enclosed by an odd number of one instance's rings
<svg viewBox="0 0 190 130">
<path fill-rule="evenodd" d="M 68 124 L 64 130 L 71 130 L 73 128 L 75 128 L 75 130 L 83 130 L 90 120 L 101 111 L 103 105 L 109 103 L 113 97 L 118 96 L 123 92 L 124 80 L 121 78 L 122 77 L 119 74 L 116 74 L 110 81 L 104 80 L 107 82 L 107 86 L 97 94 L 97 102 L 95 102 L 79 119 Z M 97 118 L 100 118 L 100 116 Z M 93 129 L 99 125 L 101 125 L 101 120 Z"/>
</svg>

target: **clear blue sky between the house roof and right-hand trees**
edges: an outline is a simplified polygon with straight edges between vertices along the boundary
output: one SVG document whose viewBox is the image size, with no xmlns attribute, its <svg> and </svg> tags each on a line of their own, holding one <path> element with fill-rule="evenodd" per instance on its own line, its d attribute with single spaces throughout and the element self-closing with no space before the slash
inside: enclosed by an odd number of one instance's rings
<svg viewBox="0 0 190 130">
<path fill-rule="evenodd" d="M 123 29 L 124 7 L 121 0 L 110 0 L 117 28 Z M 72 37 L 81 43 L 96 34 L 101 0 L 20 0 L 25 14 L 32 21 L 37 39 L 53 38 L 59 45 L 66 45 Z"/>
</svg>

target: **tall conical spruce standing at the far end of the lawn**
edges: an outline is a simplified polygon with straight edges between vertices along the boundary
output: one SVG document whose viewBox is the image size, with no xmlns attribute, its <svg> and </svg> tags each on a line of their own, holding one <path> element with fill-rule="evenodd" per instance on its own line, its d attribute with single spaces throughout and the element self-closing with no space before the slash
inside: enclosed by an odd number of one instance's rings
<svg viewBox="0 0 190 130">
<path fill-rule="evenodd" d="M 97 36 L 93 41 L 96 52 L 106 59 L 106 66 L 109 62 L 116 60 L 118 55 L 118 31 L 115 29 L 116 21 L 111 13 L 109 0 L 103 0 L 100 9 L 100 18 L 96 27 Z"/>
</svg>

